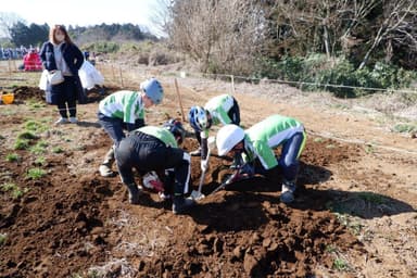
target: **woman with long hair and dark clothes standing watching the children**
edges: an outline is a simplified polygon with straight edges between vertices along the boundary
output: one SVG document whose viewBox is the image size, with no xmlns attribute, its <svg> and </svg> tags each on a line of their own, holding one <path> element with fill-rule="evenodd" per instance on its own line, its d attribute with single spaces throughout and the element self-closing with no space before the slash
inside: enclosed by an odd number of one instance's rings
<svg viewBox="0 0 417 278">
<path fill-rule="evenodd" d="M 83 96 L 78 70 L 84 63 L 84 55 L 63 25 L 55 25 L 50 29 L 49 41 L 43 43 L 40 59 L 49 73 L 61 71 L 64 76 L 64 81 L 51 85 L 51 104 L 58 105 L 61 115 L 55 124 L 65 124 L 68 121 L 77 123 L 76 100 L 79 93 Z"/>
</svg>

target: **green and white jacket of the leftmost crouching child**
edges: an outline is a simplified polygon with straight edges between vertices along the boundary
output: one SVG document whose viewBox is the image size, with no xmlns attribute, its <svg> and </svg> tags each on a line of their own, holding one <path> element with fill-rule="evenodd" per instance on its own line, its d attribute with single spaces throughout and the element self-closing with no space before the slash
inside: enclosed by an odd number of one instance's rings
<svg viewBox="0 0 417 278">
<path fill-rule="evenodd" d="M 100 101 L 99 112 L 108 117 L 121 118 L 128 124 L 144 118 L 142 98 L 137 91 L 122 90 L 108 96 Z"/>
</svg>

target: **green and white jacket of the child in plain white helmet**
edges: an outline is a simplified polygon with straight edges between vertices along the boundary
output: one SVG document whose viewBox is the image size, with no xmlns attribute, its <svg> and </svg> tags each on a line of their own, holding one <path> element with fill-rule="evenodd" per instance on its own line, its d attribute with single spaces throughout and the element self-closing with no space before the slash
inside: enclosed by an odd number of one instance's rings
<svg viewBox="0 0 417 278">
<path fill-rule="evenodd" d="M 243 160 L 253 162 L 260 159 L 265 169 L 278 165 L 274 149 L 296 132 L 304 132 L 303 125 L 292 117 L 273 115 L 244 130 Z"/>
</svg>

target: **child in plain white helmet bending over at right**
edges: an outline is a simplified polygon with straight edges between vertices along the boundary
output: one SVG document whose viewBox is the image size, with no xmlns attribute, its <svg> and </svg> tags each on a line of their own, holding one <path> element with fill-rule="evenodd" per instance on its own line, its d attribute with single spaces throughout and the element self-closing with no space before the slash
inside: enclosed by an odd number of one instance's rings
<svg viewBox="0 0 417 278">
<path fill-rule="evenodd" d="M 228 153 L 242 155 L 247 163 L 257 161 L 262 166 L 254 173 L 263 174 L 276 181 L 282 169 L 283 181 L 280 200 L 291 203 L 296 189 L 299 157 L 304 149 L 306 135 L 304 126 L 292 117 L 271 115 L 247 130 L 237 125 L 226 125 L 217 132 L 218 155 Z M 282 147 L 277 160 L 274 149 Z M 253 166 L 253 165 L 252 165 Z"/>
</svg>

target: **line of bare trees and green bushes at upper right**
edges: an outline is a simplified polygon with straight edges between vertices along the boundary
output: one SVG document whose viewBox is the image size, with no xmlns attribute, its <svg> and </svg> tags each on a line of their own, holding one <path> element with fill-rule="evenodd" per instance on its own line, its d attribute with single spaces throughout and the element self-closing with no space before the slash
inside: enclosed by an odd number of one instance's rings
<svg viewBox="0 0 417 278">
<path fill-rule="evenodd" d="M 172 46 L 205 72 L 392 87 L 417 70 L 417 0 L 166 2 Z"/>
</svg>

